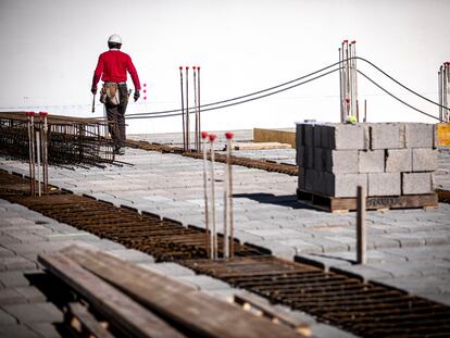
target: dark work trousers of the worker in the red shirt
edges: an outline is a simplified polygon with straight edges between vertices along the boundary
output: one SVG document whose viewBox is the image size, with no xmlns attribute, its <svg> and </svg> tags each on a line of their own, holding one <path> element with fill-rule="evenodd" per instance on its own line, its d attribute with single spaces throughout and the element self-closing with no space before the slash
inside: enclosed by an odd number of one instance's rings
<svg viewBox="0 0 450 338">
<path fill-rule="evenodd" d="M 125 134 L 125 111 L 128 105 L 128 88 L 124 85 L 117 85 L 120 103 L 118 105 L 105 103 L 108 116 L 108 129 L 111 138 L 114 140 L 116 147 L 125 146 L 126 134 Z"/>
</svg>

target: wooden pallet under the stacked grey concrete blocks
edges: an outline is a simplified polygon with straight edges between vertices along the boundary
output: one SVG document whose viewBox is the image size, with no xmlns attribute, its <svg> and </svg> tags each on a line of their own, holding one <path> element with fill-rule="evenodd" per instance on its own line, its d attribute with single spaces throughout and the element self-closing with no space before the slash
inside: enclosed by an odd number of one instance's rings
<svg viewBox="0 0 450 338">
<path fill-rule="evenodd" d="M 329 197 L 316 192 L 297 189 L 299 202 L 315 209 L 329 211 L 333 213 L 349 212 L 357 210 L 357 198 L 354 197 Z M 367 210 L 389 210 L 389 209 L 413 209 L 413 208 L 437 208 L 437 193 L 429 195 L 403 195 L 403 196 L 382 196 L 367 197 Z"/>
</svg>

